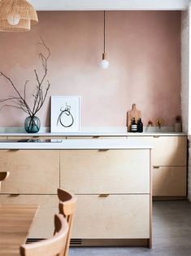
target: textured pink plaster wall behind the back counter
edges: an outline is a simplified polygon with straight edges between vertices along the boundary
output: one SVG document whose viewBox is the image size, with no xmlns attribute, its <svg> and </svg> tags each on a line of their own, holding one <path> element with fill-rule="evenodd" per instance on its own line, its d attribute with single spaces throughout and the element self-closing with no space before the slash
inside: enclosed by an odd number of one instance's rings
<svg viewBox="0 0 191 256">
<path fill-rule="evenodd" d="M 180 12 L 106 12 L 106 52 L 110 67 L 102 70 L 102 11 L 39 12 L 29 33 L 0 34 L 0 70 L 20 90 L 41 68 L 35 45 L 41 35 L 50 46 L 50 95 L 81 95 L 82 126 L 125 126 L 133 103 L 146 124 L 157 117 L 172 125 L 180 114 Z M 0 99 L 13 95 L 0 77 Z M 31 98 L 31 97 L 28 97 Z M 50 97 L 38 114 L 50 126 Z M 0 126 L 23 126 L 26 114 L 3 108 Z"/>
</svg>

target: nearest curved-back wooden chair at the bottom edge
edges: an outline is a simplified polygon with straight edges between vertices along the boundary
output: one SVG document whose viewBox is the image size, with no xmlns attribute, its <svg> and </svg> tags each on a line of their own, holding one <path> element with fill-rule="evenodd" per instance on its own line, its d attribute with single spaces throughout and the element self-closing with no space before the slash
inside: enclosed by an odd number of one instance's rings
<svg viewBox="0 0 191 256">
<path fill-rule="evenodd" d="M 21 245 L 21 256 L 61 256 L 67 245 L 68 223 L 62 214 L 54 215 L 55 234 L 50 239 Z M 45 227 L 46 228 L 46 227 Z"/>
</svg>

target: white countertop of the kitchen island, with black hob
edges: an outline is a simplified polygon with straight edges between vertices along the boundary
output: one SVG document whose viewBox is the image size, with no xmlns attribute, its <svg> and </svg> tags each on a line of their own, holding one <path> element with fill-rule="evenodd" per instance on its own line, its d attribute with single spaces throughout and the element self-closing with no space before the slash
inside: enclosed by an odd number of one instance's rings
<svg viewBox="0 0 191 256">
<path fill-rule="evenodd" d="M 53 140 L 54 141 L 54 140 Z M 150 143 L 128 139 L 63 139 L 51 143 L 0 143 L 0 149 L 150 149 Z"/>
</svg>

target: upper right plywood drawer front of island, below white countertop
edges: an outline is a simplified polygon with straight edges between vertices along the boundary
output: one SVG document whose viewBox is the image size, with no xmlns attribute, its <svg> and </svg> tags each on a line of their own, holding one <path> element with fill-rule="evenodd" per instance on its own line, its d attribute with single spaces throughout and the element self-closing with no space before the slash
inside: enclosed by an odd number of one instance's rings
<svg viewBox="0 0 191 256">
<path fill-rule="evenodd" d="M 150 150 L 63 150 L 60 180 L 76 194 L 150 193 Z"/>
</svg>

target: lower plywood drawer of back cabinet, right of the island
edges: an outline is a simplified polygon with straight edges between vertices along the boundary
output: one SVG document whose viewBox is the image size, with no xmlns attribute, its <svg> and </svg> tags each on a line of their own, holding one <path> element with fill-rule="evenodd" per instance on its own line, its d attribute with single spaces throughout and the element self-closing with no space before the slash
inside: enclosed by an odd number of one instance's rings
<svg viewBox="0 0 191 256">
<path fill-rule="evenodd" d="M 186 166 L 156 166 L 153 196 L 186 196 Z"/>
</svg>

